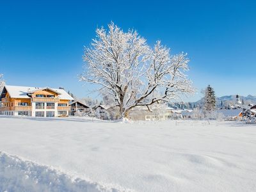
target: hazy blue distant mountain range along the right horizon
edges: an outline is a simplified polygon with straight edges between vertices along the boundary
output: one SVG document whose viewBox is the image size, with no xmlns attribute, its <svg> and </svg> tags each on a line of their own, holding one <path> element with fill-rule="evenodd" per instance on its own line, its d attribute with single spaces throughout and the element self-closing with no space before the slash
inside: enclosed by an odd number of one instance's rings
<svg viewBox="0 0 256 192">
<path fill-rule="evenodd" d="M 221 108 L 223 106 L 238 104 L 236 95 L 225 95 L 222 97 L 217 97 L 216 100 L 217 100 L 216 106 L 218 108 Z M 239 96 L 239 100 L 240 100 L 239 104 L 243 106 L 248 106 L 249 104 L 256 104 L 256 96 L 253 96 L 253 95 L 248 95 L 246 97 Z M 204 103 L 204 99 L 202 98 L 196 102 L 186 102 L 186 103 L 175 102 L 174 104 L 168 104 L 168 106 L 171 108 L 179 108 L 179 109 L 193 109 L 193 108 L 202 106 L 203 103 Z"/>
</svg>

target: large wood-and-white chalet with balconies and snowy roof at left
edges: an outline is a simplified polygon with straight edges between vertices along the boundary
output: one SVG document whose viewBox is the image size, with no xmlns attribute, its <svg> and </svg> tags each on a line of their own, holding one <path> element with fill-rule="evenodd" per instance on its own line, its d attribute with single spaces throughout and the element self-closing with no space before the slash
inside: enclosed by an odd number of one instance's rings
<svg viewBox="0 0 256 192">
<path fill-rule="evenodd" d="M 0 100 L 2 115 L 54 117 L 68 116 L 74 99 L 63 89 L 6 85 Z"/>
</svg>

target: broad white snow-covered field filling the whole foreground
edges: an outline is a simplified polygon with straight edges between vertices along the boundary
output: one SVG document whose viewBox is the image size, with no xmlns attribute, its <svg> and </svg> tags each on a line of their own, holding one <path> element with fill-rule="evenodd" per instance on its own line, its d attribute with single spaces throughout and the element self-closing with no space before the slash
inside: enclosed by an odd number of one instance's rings
<svg viewBox="0 0 256 192">
<path fill-rule="evenodd" d="M 0 116 L 0 191 L 256 191 L 256 126 Z"/>
</svg>

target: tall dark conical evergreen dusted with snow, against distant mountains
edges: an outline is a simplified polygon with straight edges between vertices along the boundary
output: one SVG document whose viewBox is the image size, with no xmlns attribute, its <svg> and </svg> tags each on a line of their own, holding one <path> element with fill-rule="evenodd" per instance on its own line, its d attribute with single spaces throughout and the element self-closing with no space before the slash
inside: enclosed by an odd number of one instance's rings
<svg viewBox="0 0 256 192">
<path fill-rule="evenodd" d="M 204 96 L 204 112 L 206 114 L 211 114 L 216 109 L 216 96 L 213 88 L 208 85 L 205 89 Z"/>
</svg>

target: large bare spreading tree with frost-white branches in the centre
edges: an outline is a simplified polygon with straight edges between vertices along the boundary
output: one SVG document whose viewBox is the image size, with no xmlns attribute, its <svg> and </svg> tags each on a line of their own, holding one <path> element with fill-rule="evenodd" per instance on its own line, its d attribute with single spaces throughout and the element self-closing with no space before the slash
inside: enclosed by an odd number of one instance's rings
<svg viewBox="0 0 256 192">
<path fill-rule="evenodd" d="M 124 32 L 113 22 L 108 30 L 98 28 L 91 47 L 84 48 L 84 72 L 79 80 L 97 84 L 100 92 L 118 106 L 120 117 L 136 106 L 178 99 L 194 92 L 184 74 L 189 70 L 183 52 L 170 55 L 170 49 L 157 41 L 149 47 L 137 31 Z"/>
</svg>

